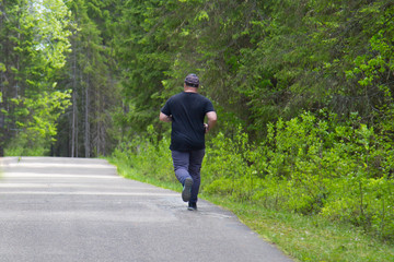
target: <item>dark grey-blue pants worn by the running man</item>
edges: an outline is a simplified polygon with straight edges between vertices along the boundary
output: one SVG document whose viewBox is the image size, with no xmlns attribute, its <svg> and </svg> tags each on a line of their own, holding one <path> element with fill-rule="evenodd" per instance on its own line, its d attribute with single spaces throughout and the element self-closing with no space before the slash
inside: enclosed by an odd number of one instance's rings
<svg viewBox="0 0 394 262">
<path fill-rule="evenodd" d="M 189 203 L 197 203 L 197 195 L 201 182 L 200 169 L 205 150 L 199 151 L 172 151 L 174 171 L 177 180 L 184 184 L 186 178 L 193 179 L 192 196 Z"/>
</svg>

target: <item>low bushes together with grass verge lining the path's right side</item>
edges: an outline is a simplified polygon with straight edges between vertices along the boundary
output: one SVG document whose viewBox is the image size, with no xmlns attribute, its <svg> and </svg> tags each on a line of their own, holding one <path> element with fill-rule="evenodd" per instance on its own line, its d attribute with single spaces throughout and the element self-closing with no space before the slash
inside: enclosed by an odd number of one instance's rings
<svg viewBox="0 0 394 262">
<path fill-rule="evenodd" d="M 137 179 L 174 188 L 170 140 L 159 140 L 152 127 L 148 132 L 149 138 L 120 144 L 114 162 L 139 174 Z M 357 115 L 344 123 L 326 112 L 278 120 L 268 126 L 267 139 L 259 144 L 251 143 L 241 128 L 232 138 L 218 133 L 207 143 L 200 192 L 224 200 L 223 205 L 232 206 L 252 228 L 301 261 L 390 261 L 394 258 L 394 152 L 389 134 L 361 123 Z M 299 225 L 293 218 L 268 223 L 266 214 L 301 218 L 296 219 Z M 278 233 L 265 228 L 266 223 L 288 229 Z M 313 227 L 302 223 L 324 226 L 312 233 L 306 228 Z M 337 228 L 347 228 L 354 237 Z M 357 254 L 358 249 L 372 251 Z M 341 255 L 349 250 L 351 254 Z"/>
</svg>

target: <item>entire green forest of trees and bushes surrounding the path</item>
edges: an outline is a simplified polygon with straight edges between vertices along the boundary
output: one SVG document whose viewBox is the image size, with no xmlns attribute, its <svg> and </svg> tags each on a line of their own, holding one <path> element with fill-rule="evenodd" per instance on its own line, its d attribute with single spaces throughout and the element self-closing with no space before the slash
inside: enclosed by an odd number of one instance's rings
<svg viewBox="0 0 394 262">
<path fill-rule="evenodd" d="M 0 0 L 0 156 L 173 181 L 188 73 L 219 119 L 202 192 L 394 241 L 392 0 Z"/>
</svg>

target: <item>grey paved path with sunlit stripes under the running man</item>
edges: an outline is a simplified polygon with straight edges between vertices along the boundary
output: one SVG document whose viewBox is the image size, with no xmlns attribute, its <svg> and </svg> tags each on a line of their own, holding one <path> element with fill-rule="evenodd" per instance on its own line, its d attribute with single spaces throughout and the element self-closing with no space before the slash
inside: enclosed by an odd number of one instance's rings
<svg viewBox="0 0 394 262">
<path fill-rule="evenodd" d="M 290 262 L 230 212 L 102 159 L 0 158 L 1 262 Z"/>
</svg>

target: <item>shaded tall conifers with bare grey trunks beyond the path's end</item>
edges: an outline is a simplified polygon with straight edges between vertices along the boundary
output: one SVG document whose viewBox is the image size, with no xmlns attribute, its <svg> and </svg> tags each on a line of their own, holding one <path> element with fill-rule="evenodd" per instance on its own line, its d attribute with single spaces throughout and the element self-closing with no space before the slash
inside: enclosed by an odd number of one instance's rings
<svg viewBox="0 0 394 262">
<path fill-rule="evenodd" d="M 72 107 L 62 117 L 57 155 L 100 156 L 114 146 L 111 111 L 117 107 L 116 66 L 112 60 L 111 1 L 69 2 L 78 29 L 71 37 L 72 52 L 59 80 L 72 90 Z M 109 31 L 109 28 L 108 28 Z"/>
</svg>

